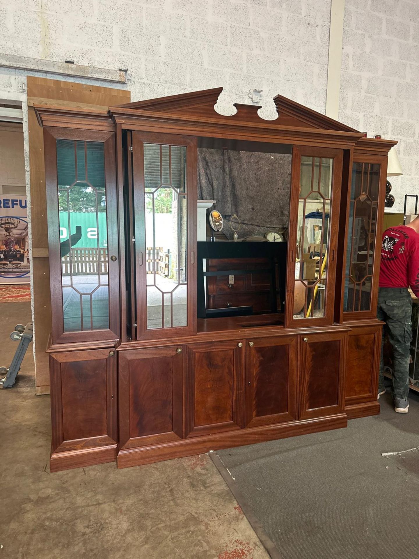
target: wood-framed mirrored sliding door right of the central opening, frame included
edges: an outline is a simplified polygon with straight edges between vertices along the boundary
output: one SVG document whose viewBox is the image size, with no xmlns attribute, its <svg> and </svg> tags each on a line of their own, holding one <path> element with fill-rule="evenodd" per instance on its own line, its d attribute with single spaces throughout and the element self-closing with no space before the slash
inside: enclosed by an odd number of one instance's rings
<svg viewBox="0 0 419 559">
<path fill-rule="evenodd" d="M 330 323 L 339 220 L 342 152 L 293 150 L 293 194 L 289 236 L 289 323 Z M 291 287 L 291 289 L 290 289 Z"/>
</svg>

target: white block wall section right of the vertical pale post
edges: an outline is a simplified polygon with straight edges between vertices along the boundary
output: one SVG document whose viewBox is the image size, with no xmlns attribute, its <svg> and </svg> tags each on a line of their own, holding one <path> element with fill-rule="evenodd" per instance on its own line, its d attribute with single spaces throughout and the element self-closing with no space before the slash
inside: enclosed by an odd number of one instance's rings
<svg viewBox="0 0 419 559">
<path fill-rule="evenodd" d="M 345 0 L 339 120 L 399 141 L 404 174 L 389 180 L 402 212 L 419 194 L 418 0 Z"/>
</svg>

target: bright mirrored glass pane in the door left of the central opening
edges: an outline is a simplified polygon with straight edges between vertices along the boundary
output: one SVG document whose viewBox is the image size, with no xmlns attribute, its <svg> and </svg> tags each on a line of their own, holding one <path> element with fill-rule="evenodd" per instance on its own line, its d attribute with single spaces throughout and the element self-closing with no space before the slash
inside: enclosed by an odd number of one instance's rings
<svg viewBox="0 0 419 559">
<path fill-rule="evenodd" d="M 147 330 L 187 326 L 187 148 L 144 144 Z"/>
</svg>

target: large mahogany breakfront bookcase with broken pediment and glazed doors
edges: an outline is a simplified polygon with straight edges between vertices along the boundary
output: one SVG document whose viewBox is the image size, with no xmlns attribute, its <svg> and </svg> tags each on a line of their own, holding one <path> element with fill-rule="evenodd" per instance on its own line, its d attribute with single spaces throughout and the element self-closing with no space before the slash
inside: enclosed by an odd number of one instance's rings
<svg viewBox="0 0 419 559">
<path fill-rule="evenodd" d="M 282 96 L 276 120 L 239 104 L 223 116 L 221 91 L 103 112 L 35 107 L 53 308 L 51 471 L 140 465 L 379 413 L 375 308 L 396 142 Z M 197 154 L 208 139 L 287 146 L 292 158 L 285 305 L 274 319 L 197 318 Z M 317 249 L 303 239 L 313 203 Z"/>
</svg>

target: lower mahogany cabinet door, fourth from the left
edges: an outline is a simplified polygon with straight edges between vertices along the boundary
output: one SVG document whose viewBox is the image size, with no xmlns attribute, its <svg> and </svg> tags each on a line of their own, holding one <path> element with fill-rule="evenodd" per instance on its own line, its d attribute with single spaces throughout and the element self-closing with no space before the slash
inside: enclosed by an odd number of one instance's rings
<svg viewBox="0 0 419 559">
<path fill-rule="evenodd" d="M 245 426 L 297 419 L 298 336 L 246 342 Z"/>
</svg>

